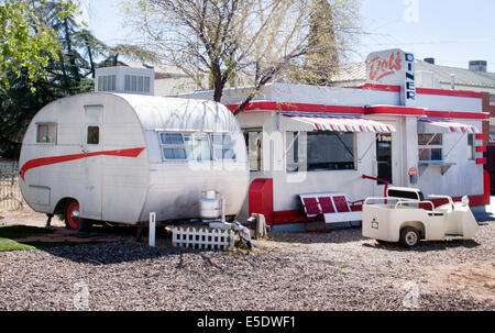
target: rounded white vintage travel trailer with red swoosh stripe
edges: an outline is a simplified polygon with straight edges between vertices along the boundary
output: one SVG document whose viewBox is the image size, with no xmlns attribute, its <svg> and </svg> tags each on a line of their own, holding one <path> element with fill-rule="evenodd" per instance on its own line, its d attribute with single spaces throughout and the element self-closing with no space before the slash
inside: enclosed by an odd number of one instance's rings
<svg viewBox="0 0 495 333">
<path fill-rule="evenodd" d="M 111 92 L 43 108 L 23 141 L 20 178 L 33 210 L 64 214 L 70 229 L 136 224 L 151 212 L 201 218 L 204 192 L 219 193 L 235 217 L 249 186 L 244 137 L 224 106 Z"/>
</svg>

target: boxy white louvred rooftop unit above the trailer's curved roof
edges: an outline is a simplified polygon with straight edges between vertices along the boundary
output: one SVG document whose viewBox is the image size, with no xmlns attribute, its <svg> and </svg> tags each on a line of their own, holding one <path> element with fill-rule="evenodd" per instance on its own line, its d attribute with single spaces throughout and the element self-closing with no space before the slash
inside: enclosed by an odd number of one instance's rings
<svg viewBox="0 0 495 333">
<path fill-rule="evenodd" d="M 155 70 L 153 68 L 102 67 L 96 69 L 95 91 L 153 96 L 154 81 Z"/>
</svg>

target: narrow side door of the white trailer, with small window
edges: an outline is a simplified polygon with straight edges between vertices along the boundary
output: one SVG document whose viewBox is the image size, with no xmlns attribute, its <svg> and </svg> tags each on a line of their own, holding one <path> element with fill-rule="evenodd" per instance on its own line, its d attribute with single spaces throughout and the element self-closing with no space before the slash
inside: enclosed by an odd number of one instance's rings
<svg viewBox="0 0 495 333">
<path fill-rule="evenodd" d="M 102 202 L 102 155 L 91 156 L 91 153 L 103 152 L 102 144 L 103 107 L 85 107 L 84 144 L 81 153 L 88 154 L 82 158 L 84 186 L 81 199 L 81 214 L 85 218 L 101 220 Z"/>
</svg>

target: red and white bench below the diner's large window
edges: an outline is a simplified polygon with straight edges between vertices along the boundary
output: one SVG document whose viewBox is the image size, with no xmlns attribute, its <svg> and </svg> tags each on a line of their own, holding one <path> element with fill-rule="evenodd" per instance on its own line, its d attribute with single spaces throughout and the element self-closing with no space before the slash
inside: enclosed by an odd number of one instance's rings
<svg viewBox="0 0 495 333">
<path fill-rule="evenodd" d="M 308 193 L 299 195 L 299 198 L 308 219 L 323 219 L 323 232 L 327 231 L 327 224 L 349 222 L 352 225 L 352 222 L 363 220 L 363 212 L 351 210 L 345 193 Z M 305 225 L 307 230 L 307 222 Z"/>
</svg>

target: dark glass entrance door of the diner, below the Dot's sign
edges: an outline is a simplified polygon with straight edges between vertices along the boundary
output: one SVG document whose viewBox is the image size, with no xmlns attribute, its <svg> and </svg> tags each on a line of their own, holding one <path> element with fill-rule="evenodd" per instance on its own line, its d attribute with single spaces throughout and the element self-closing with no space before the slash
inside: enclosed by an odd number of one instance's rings
<svg viewBox="0 0 495 333">
<path fill-rule="evenodd" d="M 387 122 L 399 131 L 397 122 Z M 400 135 L 398 133 L 377 133 L 376 134 L 376 178 L 388 181 L 389 185 L 402 186 L 400 167 Z M 385 182 L 375 182 L 375 196 L 385 195 Z"/>
</svg>

